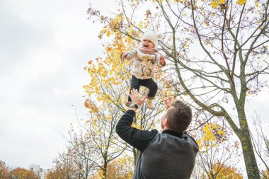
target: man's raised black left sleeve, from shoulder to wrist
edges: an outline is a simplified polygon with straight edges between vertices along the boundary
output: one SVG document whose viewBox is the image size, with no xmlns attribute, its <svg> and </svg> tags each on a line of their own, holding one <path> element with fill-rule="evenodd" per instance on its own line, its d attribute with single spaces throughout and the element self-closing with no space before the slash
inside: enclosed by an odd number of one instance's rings
<svg viewBox="0 0 269 179">
<path fill-rule="evenodd" d="M 135 111 L 127 110 L 120 118 L 116 126 L 116 132 L 122 140 L 143 152 L 159 132 L 156 129 L 148 131 L 131 127 L 134 117 Z"/>
</svg>

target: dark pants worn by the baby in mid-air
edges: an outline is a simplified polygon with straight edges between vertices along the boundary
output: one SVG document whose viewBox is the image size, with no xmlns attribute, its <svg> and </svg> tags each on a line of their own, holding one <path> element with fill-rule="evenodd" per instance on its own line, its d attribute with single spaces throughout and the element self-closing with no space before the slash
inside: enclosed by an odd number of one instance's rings
<svg viewBox="0 0 269 179">
<path fill-rule="evenodd" d="M 137 79 L 135 76 L 132 75 L 131 90 L 137 89 L 137 91 L 139 91 L 140 86 L 145 86 L 149 88 L 149 94 L 147 96 L 149 98 L 154 98 L 157 93 L 158 86 L 155 81 L 153 81 L 153 79 Z M 132 101 L 130 96 L 128 97 L 128 101 Z"/>
</svg>

